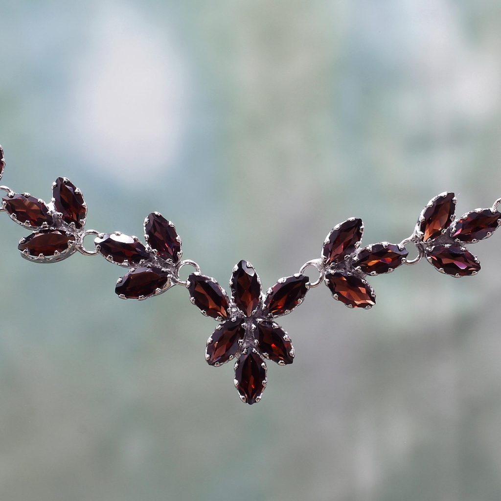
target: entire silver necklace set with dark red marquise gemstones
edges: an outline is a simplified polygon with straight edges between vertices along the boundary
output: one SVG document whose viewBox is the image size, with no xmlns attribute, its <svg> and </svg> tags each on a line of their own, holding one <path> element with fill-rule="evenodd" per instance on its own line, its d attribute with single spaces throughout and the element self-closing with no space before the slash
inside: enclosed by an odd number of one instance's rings
<svg viewBox="0 0 501 501">
<path fill-rule="evenodd" d="M 0 146 L 0 179 L 5 166 Z M 376 304 L 376 295 L 367 276 L 390 273 L 403 264 L 414 265 L 423 257 L 445 275 L 476 275 L 480 263 L 464 245 L 489 237 L 501 225 L 497 210 L 501 198 L 491 207 L 474 209 L 455 219 L 454 193 L 440 193 L 428 202 L 412 234 L 400 243 L 384 241 L 361 248 L 362 220 L 350 217 L 327 235 L 319 259 L 308 261 L 299 273 L 280 279 L 266 292 L 254 267 L 240 261 L 233 268 L 228 296 L 216 280 L 200 273 L 196 262 L 181 259 L 181 238 L 174 224 L 159 212 L 144 220 L 143 243 L 119 231 L 85 229 L 87 206 L 82 192 L 65 177 L 52 184 L 49 203 L 8 186 L 0 186 L 0 190 L 6 192 L 0 210 L 32 230 L 18 245 L 23 258 L 56 263 L 77 251 L 86 256 L 101 255 L 127 269 L 115 286 L 122 299 L 144 300 L 175 285 L 184 286 L 201 313 L 219 322 L 207 340 L 205 360 L 213 366 L 236 361 L 234 385 L 240 399 L 248 404 L 262 398 L 268 381 L 266 360 L 292 364 L 295 352 L 291 338 L 277 319 L 299 306 L 310 289 L 325 282 L 334 299 L 347 307 L 370 309 Z M 84 246 L 88 235 L 95 237 L 92 250 Z M 416 247 L 413 259 L 409 259 L 407 244 Z M 183 281 L 179 273 L 186 265 L 195 271 Z M 313 283 L 304 274 L 310 266 L 320 274 Z"/>
</svg>

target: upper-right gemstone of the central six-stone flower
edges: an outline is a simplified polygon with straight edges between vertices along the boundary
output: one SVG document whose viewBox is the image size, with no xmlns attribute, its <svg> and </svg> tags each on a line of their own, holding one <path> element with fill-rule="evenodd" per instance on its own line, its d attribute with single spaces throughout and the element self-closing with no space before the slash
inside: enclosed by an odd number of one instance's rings
<svg viewBox="0 0 501 501">
<path fill-rule="evenodd" d="M 279 317 L 289 313 L 302 303 L 309 288 L 310 279 L 299 273 L 280 279 L 268 290 L 264 303 L 264 315 Z"/>
</svg>

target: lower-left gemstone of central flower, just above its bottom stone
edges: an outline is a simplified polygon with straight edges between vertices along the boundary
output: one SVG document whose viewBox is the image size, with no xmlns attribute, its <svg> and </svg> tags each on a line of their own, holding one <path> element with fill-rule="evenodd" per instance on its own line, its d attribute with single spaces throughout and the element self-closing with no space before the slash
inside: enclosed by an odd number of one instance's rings
<svg viewBox="0 0 501 501">
<path fill-rule="evenodd" d="M 238 341 L 245 336 L 244 320 L 227 320 L 219 324 L 207 342 L 205 360 L 209 365 L 221 365 L 231 360 L 240 349 Z"/>
</svg>

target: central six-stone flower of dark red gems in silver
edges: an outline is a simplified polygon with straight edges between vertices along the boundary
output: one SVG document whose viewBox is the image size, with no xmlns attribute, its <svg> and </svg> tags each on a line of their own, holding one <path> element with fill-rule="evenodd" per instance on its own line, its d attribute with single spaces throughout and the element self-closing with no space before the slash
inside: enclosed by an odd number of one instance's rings
<svg viewBox="0 0 501 501">
<path fill-rule="evenodd" d="M 201 273 L 188 277 L 191 302 L 208 317 L 221 321 L 207 340 L 205 360 L 219 366 L 237 359 L 234 384 L 240 399 L 259 402 L 267 384 L 265 358 L 279 365 L 292 364 L 294 348 L 287 332 L 274 319 L 287 315 L 310 288 L 301 274 L 280 279 L 266 295 L 254 267 L 240 261 L 229 282 L 231 298 L 220 285 Z"/>
</svg>

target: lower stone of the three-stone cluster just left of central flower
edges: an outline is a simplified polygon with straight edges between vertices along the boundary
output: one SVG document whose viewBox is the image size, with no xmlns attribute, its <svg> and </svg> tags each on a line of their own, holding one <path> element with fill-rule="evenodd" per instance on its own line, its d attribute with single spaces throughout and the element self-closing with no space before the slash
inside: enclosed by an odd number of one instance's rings
<svg viewBox="0 0 501 501">
<path fill-rule="evenodd" d="M 160 268 L 136 268 L 119 279 L 115 293 L 128 299 L 146 299 L 153 296 L 157 290 L 163 290 L 168 281 L 169 278 Z"/>
</svg>

